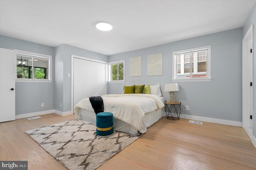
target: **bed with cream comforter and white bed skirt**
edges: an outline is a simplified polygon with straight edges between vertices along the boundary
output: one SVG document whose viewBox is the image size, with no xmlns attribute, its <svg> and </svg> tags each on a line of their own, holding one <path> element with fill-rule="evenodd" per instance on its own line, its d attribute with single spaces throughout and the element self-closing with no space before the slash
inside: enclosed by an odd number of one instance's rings
<svg viewBox="0 0 256 170">
<path fill-rule="evenodd" d="M 106 94 L 101 96 L 104 111 L 113 113 L 114 130 L 130 134 L 145 133 L 164 116 L 164 98 L 154 94 Z M 96 114 L 89 98 L 74 107 L 76 119 L 96 125 Z"/>
</svg>

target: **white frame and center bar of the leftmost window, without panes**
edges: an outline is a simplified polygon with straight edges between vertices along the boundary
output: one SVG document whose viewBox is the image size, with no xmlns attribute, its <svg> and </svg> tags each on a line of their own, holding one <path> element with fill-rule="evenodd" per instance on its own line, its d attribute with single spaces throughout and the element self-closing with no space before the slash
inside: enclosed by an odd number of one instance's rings
<svg viewBox="0 0 256 170">
<path fill-rule="evenodd" d="M 51 55 L 46 55 L 46 54 L 40 54 L 40 53 L 33 53 L 29 51 L 22 51 L 22 50 L 17 50 L 14 49 L 16 52 L 16 60 L 17 60 L 17 54 L 23 54 L 31 57 L 35 57 L 38 59 L 48 59 L 48 79 L 35 79 L 34 75 L 33 78 L 17 78 L 17 64 L 16 64 L 16 79 L 15 82 L 52 82 L 52 56 Z M 15 62 L 17 62 L 15 60 Z M 32 65 L 32 70 L 34 70 L 34 65 Z"/>
</svg>

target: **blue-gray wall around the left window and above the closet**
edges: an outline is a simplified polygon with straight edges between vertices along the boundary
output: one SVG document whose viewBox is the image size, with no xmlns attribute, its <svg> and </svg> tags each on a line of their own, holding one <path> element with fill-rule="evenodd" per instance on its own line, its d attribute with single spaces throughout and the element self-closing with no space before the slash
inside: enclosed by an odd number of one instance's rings
<svg viewBox="0 0 256 170">
<path fill-rule="evenodd" d="M 78 47 L 62 44 L 54 48 L 3 35 L 0 35 L 0 47 L 52 56 L 52 82 L 16 82 L 16 115 L 52 109 L 71 111 L 71 78 L 67 74 L 71 74 L 72 54 L 108 62 L 108 56 Z"/>
</svg>

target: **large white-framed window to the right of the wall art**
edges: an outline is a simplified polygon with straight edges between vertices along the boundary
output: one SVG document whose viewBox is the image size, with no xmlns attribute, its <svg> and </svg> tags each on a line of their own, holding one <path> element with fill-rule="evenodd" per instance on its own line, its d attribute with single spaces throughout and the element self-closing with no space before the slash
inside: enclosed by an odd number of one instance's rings
<svg viewBox="0 0 256 170">
<path fill-rule="evenodd" d="M 172 80 L 210 81 L 211 46 L 174 51 L 172 53 Z"/>
</svg>

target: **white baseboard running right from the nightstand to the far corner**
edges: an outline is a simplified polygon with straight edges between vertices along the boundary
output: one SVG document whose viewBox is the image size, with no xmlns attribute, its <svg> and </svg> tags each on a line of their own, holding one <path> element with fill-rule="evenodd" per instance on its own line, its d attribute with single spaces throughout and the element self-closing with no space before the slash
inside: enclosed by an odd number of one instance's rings
<svg viewBox="0 0 256 170">
<path fill-rule="evenodd" d="M 192 120 L 197 120 L 197 121 L 206 121 L 206 122 L 211 122 L 211 123 L 219 123 L 219 124 L 223 124 L 223 125 L 232 125 L 232 126 L 242 127 L 242 122 L 239 122 L 239 121 L 214 119 L 214 118 L 210 118 L 210 117 L 200 117 L 200 116 L 184 115 L 184 114 L 180 114 L 180 118 L 192 119 Z"/>
</svg>

